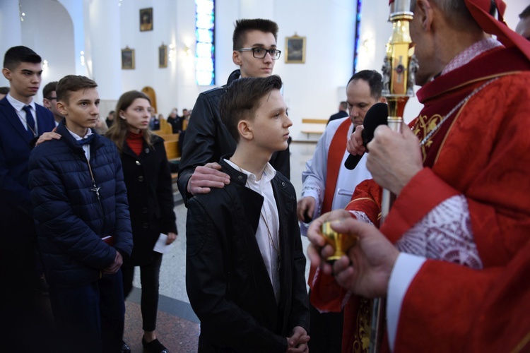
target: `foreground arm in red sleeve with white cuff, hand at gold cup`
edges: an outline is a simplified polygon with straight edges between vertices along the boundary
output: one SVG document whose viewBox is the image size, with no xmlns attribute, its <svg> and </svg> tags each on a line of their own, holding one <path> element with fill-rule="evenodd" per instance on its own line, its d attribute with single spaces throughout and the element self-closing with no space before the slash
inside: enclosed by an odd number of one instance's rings
<svg viewBox="0 0 530 353">
<path fill-rule="evenodd" d="M 336 280 L 367 298 L 387 295 L 394 352 L 530 352 L 530 240 L 507 264 L 473 270 L 400 253 L 374 226 L 339 210 L 310 226 L 312 263 L 321 261 L 319 226 L 337 218 L 331 227 L 360 241 L 334 263 Z M 322 269 L 331 273 L 329 264 Z"/>
</svg>

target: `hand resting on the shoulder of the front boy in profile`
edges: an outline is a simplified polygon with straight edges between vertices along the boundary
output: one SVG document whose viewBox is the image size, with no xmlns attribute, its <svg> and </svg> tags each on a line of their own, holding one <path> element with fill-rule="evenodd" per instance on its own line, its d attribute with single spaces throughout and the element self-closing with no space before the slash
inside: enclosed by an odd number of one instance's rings
<svg viewBox="0 0 530 353">
<path fill-rule="evenodd" d="M 211 188 L 223 188 L 230 184 L 230 176 L 220 172 L 220 164 L 213 162 L 195 168 L 188 181 L 188 192 L 192 195 L 209 193 Z"/>
</svg>

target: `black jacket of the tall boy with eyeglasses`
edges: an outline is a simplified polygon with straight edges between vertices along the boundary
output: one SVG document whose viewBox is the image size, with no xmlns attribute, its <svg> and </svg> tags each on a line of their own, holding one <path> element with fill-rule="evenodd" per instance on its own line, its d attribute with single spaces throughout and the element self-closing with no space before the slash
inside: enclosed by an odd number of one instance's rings
<svg viewBox="0 0 530 353">
<path fill-rule="evenodd" d="M 197 97 L 186 130 L 177 181 L 185 203 L 191 197 L 187 192 L 187 185 L 195 167 L 217 162 L 221 156 L 232 154 L 235 151 L 235 140 L 220 119 L 219 102 L 226 87 L 239 77 L 240 71 L 233 71 L 226 85 L 203 92 Z M 281 172 L 287 179 L 290 179 L 289 155 L 289 148 L 287 148 L 274 152 L 270 160 L 274 169 Z"/>
</svg>

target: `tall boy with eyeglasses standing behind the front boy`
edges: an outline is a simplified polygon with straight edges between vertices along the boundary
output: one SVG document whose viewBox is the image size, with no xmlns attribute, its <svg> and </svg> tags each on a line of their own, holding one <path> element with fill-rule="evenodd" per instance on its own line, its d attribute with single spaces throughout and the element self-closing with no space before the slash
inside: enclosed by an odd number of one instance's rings
<svg viewBox="0 0 530 353">
<path fill-rule="evenodd" d="M 271 20 L 237 20 L 232 37 L 233 71 L 228 83 L 199 95 L 189 119 L 182 148 L 178 186 L 184 203 L 197 193 L 222 188 L 230 183 L 228 174 L 220 172 L 217 163 L 222 155 L 235 150 L 235 140 L 220 119 L 219 101 L 225 89 L 240 77 L 268 77 L 281 56 L 276 46 L 278 25 Z M 289 148 L 273 153 L 271 165 L 290 178 Z"/>
</svg>

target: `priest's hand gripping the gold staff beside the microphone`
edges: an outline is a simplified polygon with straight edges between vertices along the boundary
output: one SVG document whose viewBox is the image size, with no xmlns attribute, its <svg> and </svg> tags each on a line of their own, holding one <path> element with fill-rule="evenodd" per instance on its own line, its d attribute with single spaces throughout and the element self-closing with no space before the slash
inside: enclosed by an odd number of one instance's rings
<svg viewBox="0 0 530 353">
<path fill-rule="evenodd" d="M 402 130 L 399 133 L 388 126 L 378 126 L 367 145 L 370 150 L 367 169 L 377 184 L 396 195 L 423 169 L 418 138 L 408 126 L 404 125 Z"/>
</svg>

